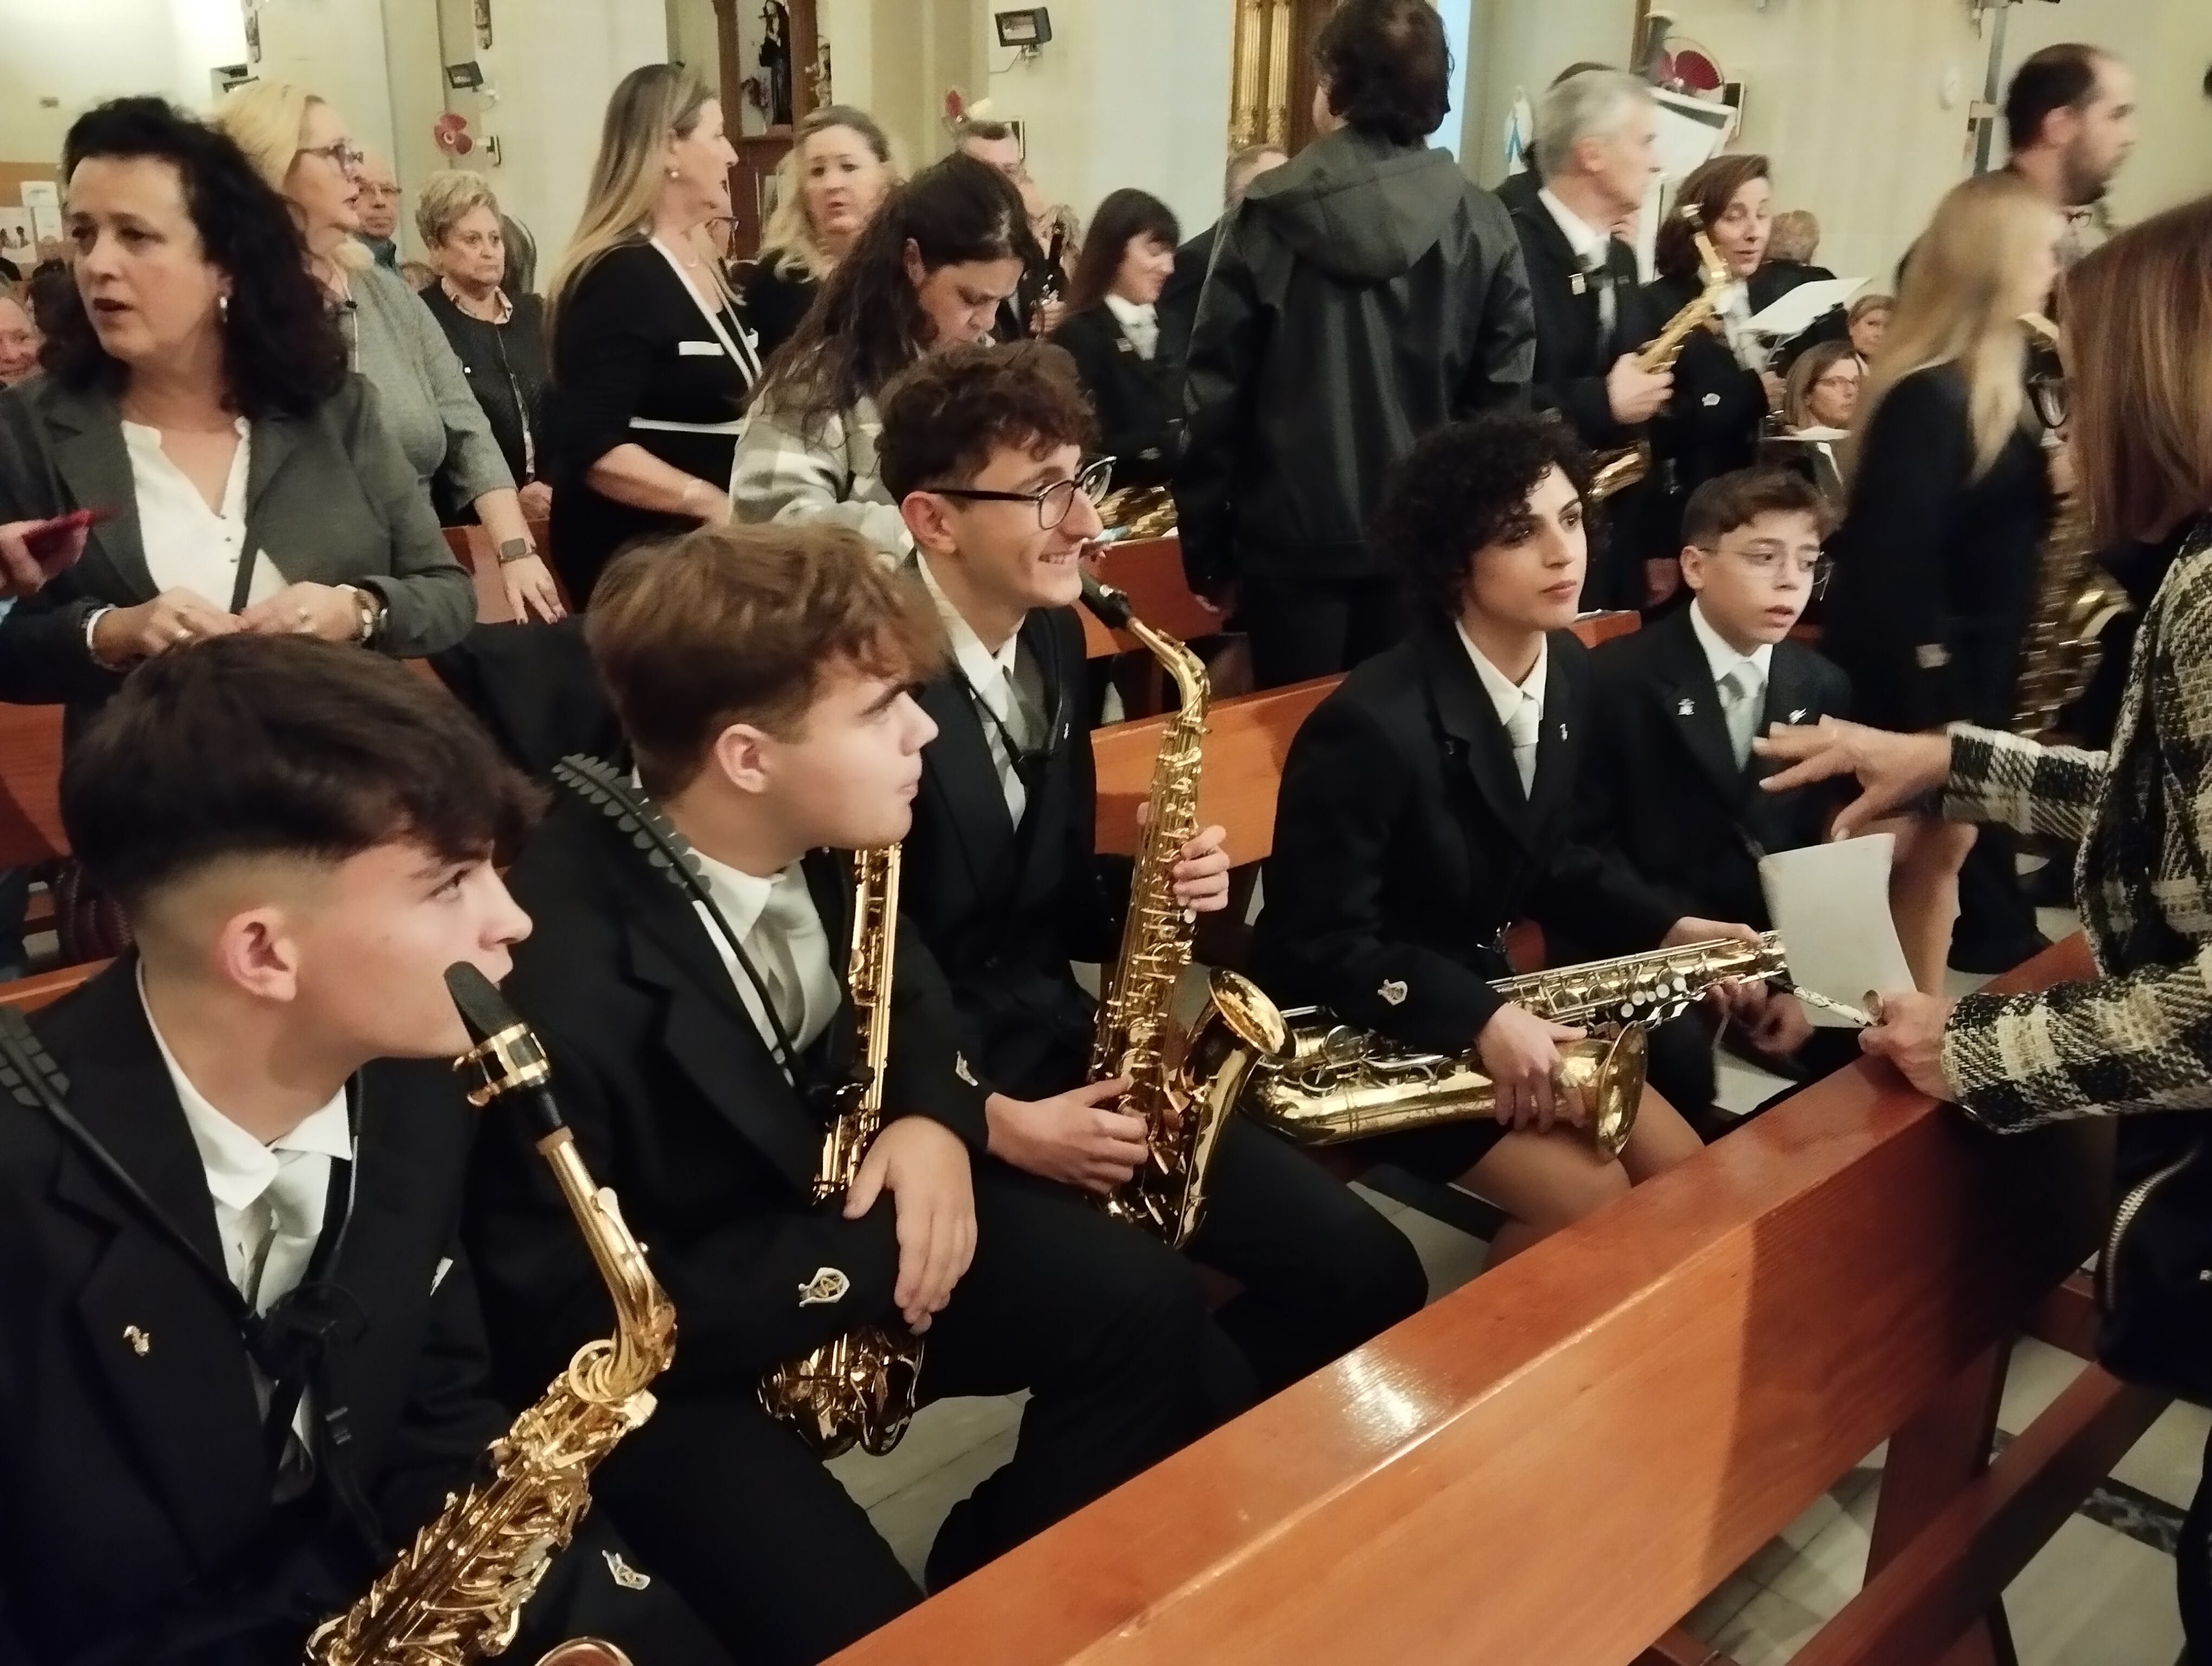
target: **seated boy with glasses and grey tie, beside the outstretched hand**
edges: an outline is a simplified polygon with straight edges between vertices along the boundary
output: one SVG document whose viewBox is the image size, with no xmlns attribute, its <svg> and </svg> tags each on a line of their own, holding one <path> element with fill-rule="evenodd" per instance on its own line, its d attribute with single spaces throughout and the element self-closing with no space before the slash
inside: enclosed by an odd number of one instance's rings
<svg viewBox="0 0 2212 1666">
<path fill-rule="evenodd" d="M 1759 858 L 1818 845 L 1838 808 L 1820 788 L 1761 792 L 1774 763 L 1752 754 L 1770 723 L 1845 717 L 1849 679 L 1790 639 L 1818 591 L 1820 542 L 1834 511 L 1801 473 L 1741 469 L 1701 485 L 1683 511 L 1681 573 L 1690 606 L 1590 657 L 1593 759 L 1584 777 L 1584 836 L 1621 858 L 1650 907 L 1772 925 Z M 1765 1058 L 1834 1069 L 1827 1038 L 1798 1002 L 1743 989 L 1734 1020 Z M 1708 1027 L 1710 1029 L 1710 1027 Z M 1694 1040 L 1694 1031 L 1681 1027 Z M 1807 1047 L 1814 1038 L 1820 1044 Z M 1652 1077 L 1683 1106 L 1712 1102 L 1703 1044 L 1655 1047 Z M 1843 1058 L 1856 1055 L 1845 1047 Z"/>
</svg>

